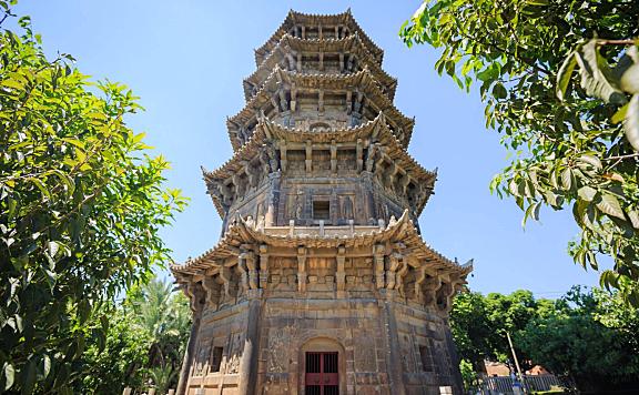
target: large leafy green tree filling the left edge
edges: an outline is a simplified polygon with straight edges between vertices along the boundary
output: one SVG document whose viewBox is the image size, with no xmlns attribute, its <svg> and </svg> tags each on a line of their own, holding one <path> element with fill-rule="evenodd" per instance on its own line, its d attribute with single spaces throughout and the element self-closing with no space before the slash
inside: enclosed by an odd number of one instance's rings
<svg viewBox="0 0 639 395">
<path fill-rule="evenodd" d="M 0 391 L 63 394 L 105 344 L 105 301 L 169 259 L 158 231 L 184 199 L 124 121 L 131 91 L 19 24 L 0 32 Z"/>
</svg>

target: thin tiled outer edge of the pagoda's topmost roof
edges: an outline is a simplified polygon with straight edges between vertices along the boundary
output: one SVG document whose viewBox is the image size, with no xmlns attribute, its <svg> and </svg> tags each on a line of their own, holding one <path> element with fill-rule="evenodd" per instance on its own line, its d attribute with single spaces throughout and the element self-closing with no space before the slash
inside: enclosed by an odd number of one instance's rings
<svg viewBox="0 0 639 395">
<path fill-rule="evenodd" d="M 275 32 L 268 38 L 268 40 L 266 40 L 266 42 L 264 44 L 262 44 L 261 47 L 258 47 L 254 50 L 255 64 L 256 65 L 258 65 L 261 63 L 260 58 L 264 55 L 264 52 L 272 50 L 276 44 L 275 41 L 278 40 L 284 33 L 286 33 L 286 29 L 285 29 L 286 24 L 287 23 L 295 24 L 296 22 L 300 21 L 301 18 L 312 19 L 312 20 L 331 19 L 331 20 L 341 20 L 342 23 L 347 23 L 347 22 L 353 23 L 354 30 L 361 32 L 362 39 L 364 41 L 366 41 L 366 43 L 371 47 L 371 51 L 373 52 L 373 54 L 379 59 L 379 62 L 382 62 L 382 60 L 384 58 L 384 50 L 379 45 L 377 45 L 375 43 L 375 41 L 373 41 L 366 34 L 366 32 L 364 31 L 364 29 L 362 29 L 362 27 L 359 27 L 359 24 L 357 23 L 355 18 L 353 18 L 353 14 L 351 12 L 351 8 L 348 8 L 345 12 L 336 13 L 336 14 L 311 14 L 311 13 L 302 13 L 302 12 L 297 12 L 294 10 L 290 10 L 288 13 L 286 14 L 286 18 L 280 24 L 277 30 L 275 30 Z"/>
</svg>

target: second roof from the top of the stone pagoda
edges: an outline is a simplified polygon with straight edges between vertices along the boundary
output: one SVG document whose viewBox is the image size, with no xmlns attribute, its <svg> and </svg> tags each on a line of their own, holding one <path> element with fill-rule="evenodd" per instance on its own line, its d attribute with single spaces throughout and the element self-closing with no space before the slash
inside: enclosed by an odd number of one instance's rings
<svg viewBox="0 0 639 395">
<path fill-rule="evenodd" d="M 301 39 L 285 33 L 268 55 L 257 65 L 257 70 L 244 79 L 244 98 L 246 101 L 253 97 L 253 87 L 258 87 L 258 89 L 262 88 L 266 79 L 278 64 L 280 59 L 277 59 L 275 54 L 280 52 L 284 55 L 284 48 L 286 47 L 296 51 L 351 51 L 351 53 L 355 53 L 358 59 L 368 67 L 378 83 L 385 87 L 388 98 L 393 100 L 395 97 L 397 79 L 390 77 L 386 71 L 384 71 L 384 69 L 382 69 L 379 63 L 366 49 L 366 45 L 363 43 L 358 32 L 342 39 Z"/>
</svg>

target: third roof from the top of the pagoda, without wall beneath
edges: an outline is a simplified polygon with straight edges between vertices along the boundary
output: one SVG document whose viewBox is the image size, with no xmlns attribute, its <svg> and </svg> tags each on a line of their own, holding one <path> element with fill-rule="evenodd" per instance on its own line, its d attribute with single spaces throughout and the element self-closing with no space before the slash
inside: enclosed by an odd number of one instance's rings
<svg viewBox="0 0 639 395">
<path fill-rule="evenodd" d="M 405 138 L 400 143 L 404 148 L 408 146 L 415 120 L 402 113 L 393 101 L 382 92 L 378 82 L 367 68 L 348 74 L 304 74 L 283 70 L 277 65 L 268 75 L 262 89 L 251 98 L 244 109 L 226 121 L 230 129 L 231 143 L 235 151 L 240 149 L 241 143 L 231 134 L 231 129 L 234 125 L 246 124 L 253 120 L 256 117 L 256 109 L 270 103 L 273 94 L 271 92 L 283 83 L 295 84 L 296 89 L 363 90 L 367 99 L 379 112 L 385 114 L 389 123 L 394 126 L 403 128 Z"/>
</svg>

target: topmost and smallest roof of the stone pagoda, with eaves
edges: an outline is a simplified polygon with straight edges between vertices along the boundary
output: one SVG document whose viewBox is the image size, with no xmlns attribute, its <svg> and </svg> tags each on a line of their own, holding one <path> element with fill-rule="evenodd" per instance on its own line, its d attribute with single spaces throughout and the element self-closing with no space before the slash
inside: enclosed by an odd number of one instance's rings
<svg viewBox="0 0 639 395">
<path fill-rule="evenodd" d="M 264 61 L 268 53 L 271 53 L 277 45 L 277 42 L 282 36 L 286 34 L 288 30 L 295 24 L 304 24 L 310 27 L 332 24 L 346 26 L 353 33 L 358 33 L 358 36 L 362 38 L 362 41 L 366 44 L 368 51 L 373 54 L 375 60 L 382 64 L 384 50 L 382 50 L 368 36 L 366 36 L 366 32 L 359 27 L 355 18 L 353 18 L 351 9 L 348 9 L 345 12 L 337 14 L 308 14 L 293 10 L 288 11 L 286 19 L 284 19 L 280 28 L 277 28 L 273 36 L 271 36 L 271 38 L 262 47 L 255 50 L 256 65 L 260 65 L 260 63 Z"/>
</svg>

